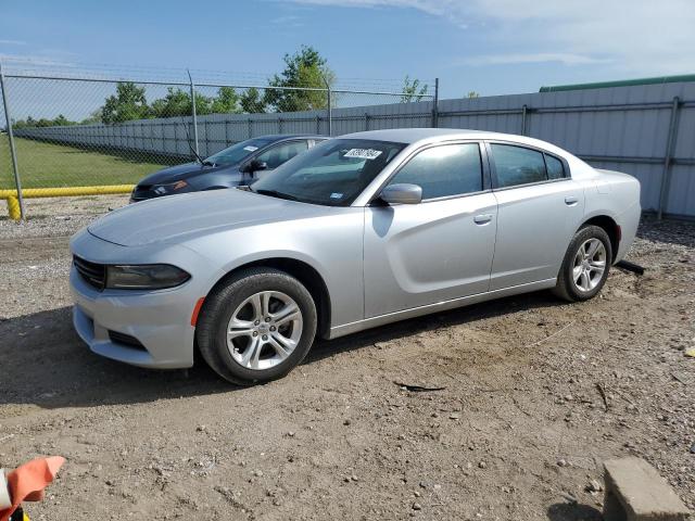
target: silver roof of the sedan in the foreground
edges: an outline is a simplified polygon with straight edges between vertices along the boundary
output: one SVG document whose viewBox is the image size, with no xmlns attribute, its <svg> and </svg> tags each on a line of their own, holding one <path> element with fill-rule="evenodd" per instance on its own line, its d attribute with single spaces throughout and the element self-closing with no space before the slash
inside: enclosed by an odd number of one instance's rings
<svg viewBox="0 0 695 521">
<path fill-rule="evenodd" d="M 488 139 L 513 141 L 519 144 L 539 147 L 547 151 L 568 154 L 567 151 L 540 139 L 528 138 L 514 134 L 490 132 L 486 130 L 470 130 L 462 128 L 390 128 L 384 130 L 368 130 L 340 136 L 341 139 L 374 139 L 376 141 L 391 141 L 405 144 L 422 144 L 451 139 Z"/>
</svg>

